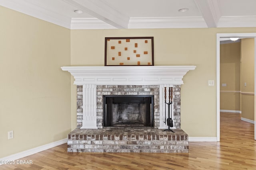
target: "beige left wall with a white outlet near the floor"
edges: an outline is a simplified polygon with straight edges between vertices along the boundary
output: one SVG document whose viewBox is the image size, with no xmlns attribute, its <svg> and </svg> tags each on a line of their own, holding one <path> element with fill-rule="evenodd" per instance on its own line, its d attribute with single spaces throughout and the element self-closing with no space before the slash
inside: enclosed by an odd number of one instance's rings
<svg viewBox="0 0 256 170">
<path fill-rule="evenodd" d="M 0 22 L 2 158 L 67 138 L 71 92 L 69 29 L 2 6 Z"/>
</svg>

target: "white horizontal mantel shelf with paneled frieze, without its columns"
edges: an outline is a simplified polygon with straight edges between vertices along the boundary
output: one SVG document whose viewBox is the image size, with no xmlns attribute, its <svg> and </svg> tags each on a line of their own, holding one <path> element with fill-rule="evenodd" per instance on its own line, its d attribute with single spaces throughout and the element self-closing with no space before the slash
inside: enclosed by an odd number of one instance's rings
<svg viewBox="0 0 256 170">
<path fill-rule="evenodd" d="M 183 84 L 183 76 L 196 66 L 63 66 L 74 84 Z"/>
</svg>

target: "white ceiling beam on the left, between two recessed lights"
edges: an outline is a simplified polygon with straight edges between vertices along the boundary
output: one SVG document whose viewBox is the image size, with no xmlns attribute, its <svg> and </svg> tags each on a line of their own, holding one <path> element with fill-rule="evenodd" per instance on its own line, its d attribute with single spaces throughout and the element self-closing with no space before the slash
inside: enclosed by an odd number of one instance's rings
<svg viewBox="0 0 256 170">
<path fill-rule="evenodd" d="M 112 8 L 104 0 L 63 0 L 116 28 L 128 28 L 130 18 Z"/>
</svg>

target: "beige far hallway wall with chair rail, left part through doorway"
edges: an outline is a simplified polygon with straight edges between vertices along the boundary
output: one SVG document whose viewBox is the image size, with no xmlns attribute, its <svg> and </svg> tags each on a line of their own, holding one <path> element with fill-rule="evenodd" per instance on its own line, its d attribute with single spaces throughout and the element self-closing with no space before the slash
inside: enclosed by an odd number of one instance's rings
<svg viewBox="0 0 256 170">
<path fill-rule="evenodd" d="M 240 42 L 220 45 L 220 109 L 240 111 Z M 227 86 L 222 86 L 226 83 Z"/>
</svg>

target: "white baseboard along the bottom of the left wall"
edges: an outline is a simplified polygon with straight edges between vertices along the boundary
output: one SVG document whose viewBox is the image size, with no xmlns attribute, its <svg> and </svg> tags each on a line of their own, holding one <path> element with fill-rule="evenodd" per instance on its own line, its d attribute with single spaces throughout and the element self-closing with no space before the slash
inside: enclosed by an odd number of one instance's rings
<svg viewBox="0 0 256 170">
<path fill-rule="evenodd" d="M 16 154 L 12 154 L 10 156 L 6 156 L 4 158 L 0 158 L 0 160 L 3 160 L 3 161 L 4 160 L 17 160 L 17 159 L 23 158 L 25 156 L 29 156 L 29 155 L 41 152 L 43 150 L 50 149 L 50 148 L 56 147 L 58 145 L 62 145 L 64 143 L 67 143 L 67 141 L 68 141 L 68 138 L 65 138 L 65 139 L 62 139 L 60 141 L 48 143 L 48 144 L 42 145 L 40 147 L 32 148 L 32 149 L 29 149 L 29 150 L 25 150 L 23 152 L 19 152 L 19 153 L 16 153 Z M 2 165 L 2 164 L 0 163 L 0 165 Z"/>
</svg>

